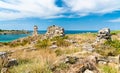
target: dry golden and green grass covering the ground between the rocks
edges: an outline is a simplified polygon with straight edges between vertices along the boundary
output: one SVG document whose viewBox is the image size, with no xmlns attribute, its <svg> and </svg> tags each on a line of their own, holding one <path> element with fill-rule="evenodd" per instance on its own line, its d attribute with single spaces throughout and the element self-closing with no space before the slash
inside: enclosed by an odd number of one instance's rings
<svg viewBox="0 0 120 73">
<path fill-rule="evenodd" d="M 120 54 L 120 31 L 113 31 L 111 33 L 113 35 L 113 40 L 111 42 L 105 42 L 103 46 L 97 46 L 97 53 L 103 56 L 108 56 L 110 52 L 112 53 L 112 55 Z M 78 45 L 81 45 L 86 42 L 93 43 L 96 40 L 96 36 L 97 35 L 94 33 L 69 34 L 65 38 L 56 37 L 51 40 L 38 40 L 37 43 L 32 47 L 36 48 L 36 50 L 29 50 L 31 44 L 28 42 L 27 44 L 24 43 L 28 41 L 26 40 L 23 41 L 24 45 L 14 44 L 16 46 L 11 47 L 11 45 L 7 44 L 4 46 L 0 46 L 0 51 L 14 51 L 10 55 L 10 57 L 16 58 L 19 65 L 10 68 L 10 73 L 53 73 L 51 67 L 56 60 L 58 60 L 62 56 L 82 51 L 81 46 L 75 47 L 75 45 L 66 42 L 66 39 L 73 39 L 77 41 Z M 49 48 L 52 41 L 56 41 L 58 48 Z M 107 50 L 101 50 L 101 48 Z M 62 68 L 65 68 L 65 66 L 62 65 Z M 112 67 L 102 66 L 99 68 L 103 71 L 103 73 L 119 73 L 116 71 L 116 69 Z"/>
</svg>

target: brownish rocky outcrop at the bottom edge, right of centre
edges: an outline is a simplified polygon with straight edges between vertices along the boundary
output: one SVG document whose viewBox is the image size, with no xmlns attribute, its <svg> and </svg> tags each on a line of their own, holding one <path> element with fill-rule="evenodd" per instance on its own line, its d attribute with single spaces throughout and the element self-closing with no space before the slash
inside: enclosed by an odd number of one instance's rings
<svg viewBox="0 0 120 73">
<path fill-rule="evenodd" d="M 52 70 L 54 73 L 58 73 L 59 64 L 64 64 L 67 66 L 67 70 L 61 70 L 59 73 L 99 73 L 94 59 L 96 60 L 95 57 L 91 58 L 89 56 L 87 58 L 67 56 L 63 61 L 55 64 Z"/>
</svg>

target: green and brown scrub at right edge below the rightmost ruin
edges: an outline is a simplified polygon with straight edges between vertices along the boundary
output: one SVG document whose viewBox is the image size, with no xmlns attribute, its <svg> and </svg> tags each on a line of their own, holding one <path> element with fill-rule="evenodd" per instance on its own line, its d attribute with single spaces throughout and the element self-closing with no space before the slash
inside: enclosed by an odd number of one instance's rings
<svg viewBox="0 0 120 73">
<path fill-rule="evenodd" d="M 106 41 L 103 45 L 97 47 L 96 52 L 103 56 L 116 56 L 120 54 L 120 41 L 119 40 Z"/>
</svg>

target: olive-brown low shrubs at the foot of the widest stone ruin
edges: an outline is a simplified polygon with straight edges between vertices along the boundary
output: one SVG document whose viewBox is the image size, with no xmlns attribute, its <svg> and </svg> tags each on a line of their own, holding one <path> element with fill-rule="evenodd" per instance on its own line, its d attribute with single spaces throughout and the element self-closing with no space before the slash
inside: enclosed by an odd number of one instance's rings
<svg viewBox="0 0 120 73">
<path fill-rule="evenodd" d="M 48 48 L 49 46 L 52 45 L 52 42 L 55 41 L 55 44 L 59 47 L 67 47 L 70 45 L 69 42 L 65 41 L 65 39 L 67 39 L 68 36 L 64 36 L 64 37 L 54 37 L 52 39 L 44 39 L 44 40 L 39 40 L 37 41 L 37 43 L 35 44 L 36 48 Z"/>
</svg>

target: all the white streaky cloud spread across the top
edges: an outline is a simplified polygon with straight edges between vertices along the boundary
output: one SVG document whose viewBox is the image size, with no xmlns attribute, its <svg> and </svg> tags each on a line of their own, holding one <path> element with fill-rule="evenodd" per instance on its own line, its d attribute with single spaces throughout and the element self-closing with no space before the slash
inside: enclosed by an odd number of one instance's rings
<svg viewBox="0 0 120 73">
<path fill-rule="evenodd" d="M 74 15 L 106 14 L 120 10 L 120 0 L 62 0 L 58 7 L 56 0 L 0 0 L 0 20 L 18 18 L 72 18 Z M 64 15 L 70 13 L 69 15 Z"/>
</svg>

